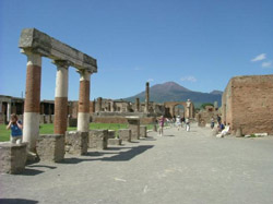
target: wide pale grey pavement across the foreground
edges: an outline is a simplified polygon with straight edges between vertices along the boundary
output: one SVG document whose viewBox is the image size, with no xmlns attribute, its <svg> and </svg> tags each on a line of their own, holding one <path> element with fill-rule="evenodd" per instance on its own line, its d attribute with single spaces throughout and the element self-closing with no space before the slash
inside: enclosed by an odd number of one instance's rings
<svg viewBox="0 0 273 204">
<path fill-rule="evenodd" d="M 273 203 L 273 137 L 216 139 L 209 129 L 37 163 L 0 176 L 0 203 Z"/>
</svg>

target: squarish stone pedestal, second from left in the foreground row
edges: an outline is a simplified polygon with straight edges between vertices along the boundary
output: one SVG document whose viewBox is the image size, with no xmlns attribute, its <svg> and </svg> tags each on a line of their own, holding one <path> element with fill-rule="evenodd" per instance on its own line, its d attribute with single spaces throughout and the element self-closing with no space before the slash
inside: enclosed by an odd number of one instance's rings
<svg viewBox="0 0 273 204">
<path fill-rule="evenodd" d="M 64 158 L 63 134 L 41 134 L 37 140 L 37 154 L 40 160 L 61 161 Z"/>
</svg>

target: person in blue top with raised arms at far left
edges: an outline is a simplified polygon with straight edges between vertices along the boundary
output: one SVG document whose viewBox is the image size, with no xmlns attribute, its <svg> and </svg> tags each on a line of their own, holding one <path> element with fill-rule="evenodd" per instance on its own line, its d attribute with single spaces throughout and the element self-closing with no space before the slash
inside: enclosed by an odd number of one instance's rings
<svg viewBox="0 0 273 204">
<path fill-rule="evenodd" d="M 11 143 L 13 144 L 21 144 L 22 143 L 22 130 L 23 130 L 23 124 L 22 122 L 17 119 L 16 115 L 11 115 L 11 120 L 9 124 L 7 125 L 7 130 L 11 129 Z"/>
</svg>

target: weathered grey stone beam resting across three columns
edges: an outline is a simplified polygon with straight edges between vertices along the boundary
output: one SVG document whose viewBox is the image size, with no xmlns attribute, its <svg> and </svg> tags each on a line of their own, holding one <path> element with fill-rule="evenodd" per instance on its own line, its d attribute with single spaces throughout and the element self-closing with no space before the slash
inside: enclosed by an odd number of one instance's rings
<svg viewBox="0 0 273 204">
<path fill-rule="evenodd" d="M 78 69 L 97 72 L 97 62 L 94 58 L 36 28 L 24 28 L 22 31 L 19 47 L 22 49 L 31 49 L 33 52 L 54 60 L 67 60 L 72 67 Z"/>
</svg>

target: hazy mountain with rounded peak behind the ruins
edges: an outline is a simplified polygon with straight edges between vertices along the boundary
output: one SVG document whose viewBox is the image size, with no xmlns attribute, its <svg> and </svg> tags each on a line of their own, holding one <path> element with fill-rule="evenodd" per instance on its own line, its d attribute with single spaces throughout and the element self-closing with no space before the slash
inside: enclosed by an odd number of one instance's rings
<svg viewBox="0 0 273 204">
<path fill-rule="evenodd" d="M 193 92 L 175 82 L 166 82 L 150 87 L 150 100 L 156 103 L 186 101 L 187 99 L 191 99 L 197 105 L 218 101 L 221 106 L 222 94 L 223 92 L 221 91 L 213 91 L 211 93 Z M 140 101 L 145 101 L 145 92 L 123 99 L 135 101 L 135 98 L 140 98 Z"/>
</svg>

